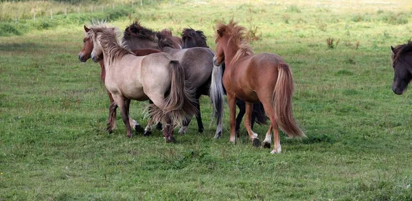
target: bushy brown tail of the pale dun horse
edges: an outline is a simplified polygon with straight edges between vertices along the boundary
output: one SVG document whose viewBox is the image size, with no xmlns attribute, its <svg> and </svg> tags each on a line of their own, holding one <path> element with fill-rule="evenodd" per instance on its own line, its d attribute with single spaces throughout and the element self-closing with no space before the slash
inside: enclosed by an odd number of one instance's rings
<svg viewBox="0 0 412 201">
<path fill-rule="evenodd" d="M 165 97 L 165 107 L 159 109 L 150 105 L 150 115 L 155 122 L 165 124 L 165 118 L 170 118 L 172 124 L 181 126 L 183 120 L 192 118 L 198 111 L 194 105 L 194 90 L 185 83 L 185 72 L 178 61 L 170 61 L 170 92 Z"/>
</svg>

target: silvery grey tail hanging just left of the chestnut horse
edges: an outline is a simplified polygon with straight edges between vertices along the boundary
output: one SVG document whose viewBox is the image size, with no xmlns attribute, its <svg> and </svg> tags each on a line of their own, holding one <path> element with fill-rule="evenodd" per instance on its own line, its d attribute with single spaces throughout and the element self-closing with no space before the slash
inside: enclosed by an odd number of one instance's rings
<svg viewBox="0 0 412 201">
<path fill-rule="evenodd" d="M 225 92 L 223 91 L 222 75 L 222 66 L 213 65 L 213 70 L 211 71 L 209 97 L 211 103 L 213 104 L 213 113 L 214 117 L 216 118 L 216 124 L 218 125 L 222 122 L 223 119 L 223 103 L 225 103 Z"/>
</svg>

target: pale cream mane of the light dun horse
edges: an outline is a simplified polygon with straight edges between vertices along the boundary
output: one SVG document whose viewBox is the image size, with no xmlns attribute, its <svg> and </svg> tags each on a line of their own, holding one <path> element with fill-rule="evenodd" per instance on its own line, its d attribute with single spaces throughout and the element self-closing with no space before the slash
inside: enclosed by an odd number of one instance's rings
<svg viewBox="0 0 412 201">
<path fill-rule="evenodd" d="M 108 57 L 105 57 L 106 66 L 111 66 L 113 62 L 122 59 L 124 55 L 133 54 L 131 51 L 128 51 L 124 46 L 117 40 L 119 35 L 119 29 L 116 27 L 106 27 L 106 23 L 100 25 L 92 25 L 90 31 L 87 32 L 87 36 L 91 40 L 100 40 L 100 44 L 104 51 L 106 51 Z"/>
</svg>

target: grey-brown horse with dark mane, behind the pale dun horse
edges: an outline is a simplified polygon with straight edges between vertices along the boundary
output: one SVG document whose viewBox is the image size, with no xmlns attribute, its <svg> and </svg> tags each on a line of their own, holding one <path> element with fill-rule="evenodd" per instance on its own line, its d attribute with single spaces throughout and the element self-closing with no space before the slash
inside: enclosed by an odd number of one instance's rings
<svg viewBox="0 0 412 201">
<path fill-rule="evenodd" d="M 190 82 L 192 88 L 196 90 L 195 105 L 198 109 L 196 120 L 198 121 L 198 131 L 200 133 L 203 132 L 201 109 L 198 99 L 201 95 L 209 96 L 214 52 L 211 51 L 211 49 L 203 47 L 176 49 L 176 42 L 174 42 L 170 36 L 162 34 L 159 31 L 153 31 L 152 29 L 142 27 L 137 21 L 126 27 L 122 42 L 128 49 L 158 49 L 162 52 L 169 53 L 173 58 L 180 62 L 185 70 L 187 81 Z M 214 105 L 214 117 L 216 118 L 217 124 L 214 137 L 218 138 L 222 135 L 224 98 L 222 96 L 211 97 L 214 97 L 211 98 L 211 102 Z M 179 133 L 186 133 L 189 123 L 190 120 L 183 122 L 183 127 L 179 130 Z M 146 127 L 146 129 L 150 129 L 150 127 Z"/>
</svg>

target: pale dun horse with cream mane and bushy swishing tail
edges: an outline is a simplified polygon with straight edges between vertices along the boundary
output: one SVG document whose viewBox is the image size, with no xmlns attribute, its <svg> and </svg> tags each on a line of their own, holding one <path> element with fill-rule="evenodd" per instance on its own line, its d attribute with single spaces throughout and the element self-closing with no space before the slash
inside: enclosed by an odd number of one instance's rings
<svg viewBox="0 0 412 201">
<path fill-rule="evenodd" d="M 106 70 L 105 85 L 118 105 L 128 137 L 130 100 L 152 100 L 149 115 L 154 122 L 163 123 L 166 142 L 174 142 L 174 125 L 181 124 L 196 113 L 192 89 L 185 83 L 185 73 L 178 61 L 167 53 L 136 56 L 117 40 L 118 29 L 98 24 L 90 27 L 87 36 L 93 40 L 91 59 L 103 55 Z M 109 108 L 112 111 L 112 106 Z"/>
</svg>

